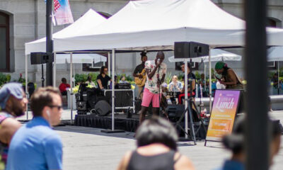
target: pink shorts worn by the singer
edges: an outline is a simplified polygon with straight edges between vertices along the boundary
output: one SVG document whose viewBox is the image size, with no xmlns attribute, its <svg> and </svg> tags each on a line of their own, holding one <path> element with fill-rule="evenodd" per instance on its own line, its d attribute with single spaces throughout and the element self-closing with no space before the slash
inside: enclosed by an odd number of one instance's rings
<svg viewBox="0 0 283 170">
<path fill-rule="evenodd" d="M 149 91 L 149 89 L 144 88 L 141 106 L 148 108 L 152 101 L 152 107 L 159 108 L 159 96 L 161 96 L 161 94 L 153 94 Z"/>
</svg>

